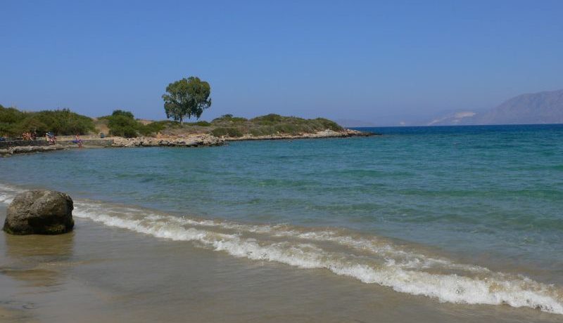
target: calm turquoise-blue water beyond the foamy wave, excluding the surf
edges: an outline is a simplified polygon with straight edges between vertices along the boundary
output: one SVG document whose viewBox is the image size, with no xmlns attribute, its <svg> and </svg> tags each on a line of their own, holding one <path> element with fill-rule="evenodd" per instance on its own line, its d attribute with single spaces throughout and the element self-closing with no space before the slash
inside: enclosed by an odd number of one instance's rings
<svg viewBox="0 0 563 323">
<path fill-rule="evenodd" d="M 0 182 L 216 223 L 346 230 L 563 285 L 562 125 L 365 130 L 384 135 L 14 156 Z"/>
</svg>

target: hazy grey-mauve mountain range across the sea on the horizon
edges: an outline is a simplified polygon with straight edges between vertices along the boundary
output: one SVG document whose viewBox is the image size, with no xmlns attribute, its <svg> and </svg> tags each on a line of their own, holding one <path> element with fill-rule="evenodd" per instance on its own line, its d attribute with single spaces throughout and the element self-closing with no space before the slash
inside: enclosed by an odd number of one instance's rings
<svg viewBox="0 0 563 323">
<path fill-rule="evenodd" d="M 522 94 L 485 112 L 453 112 L 425 124 L 563 124 L 563 90 Z"/>
</svg>

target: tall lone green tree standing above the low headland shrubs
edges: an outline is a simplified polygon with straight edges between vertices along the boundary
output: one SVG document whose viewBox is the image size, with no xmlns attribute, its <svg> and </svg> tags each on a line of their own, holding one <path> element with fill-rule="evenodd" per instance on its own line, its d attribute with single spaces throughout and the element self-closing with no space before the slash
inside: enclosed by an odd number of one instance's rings
<svg viewBox="0 0 563 323">
<path fill-rule="evenodd" d="M 211 86 L 198 77 L 184 78 L 166 86 L 163 95 L 164 110 L 167 118 L 184 121 L 184 117 L 199 119 L 204 109 L 211 106 Z"/>
</svg>

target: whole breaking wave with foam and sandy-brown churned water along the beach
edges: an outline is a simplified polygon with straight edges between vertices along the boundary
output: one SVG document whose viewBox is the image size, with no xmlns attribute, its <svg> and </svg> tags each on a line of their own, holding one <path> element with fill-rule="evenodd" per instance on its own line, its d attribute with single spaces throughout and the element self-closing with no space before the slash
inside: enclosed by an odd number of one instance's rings
<svg viewBox="0 0 563 323">
<path fill-rule="evenodd" d="M 0 186 L 0 202 L 8 204 L 16 192 L 13 187 Z M 563 314 L 563 290 L 559 286 L 427 256 L 381 237 L 341 229 L 179 218 L 80 199 L 75 200 L 74 216 L 153 237 L 194 242 L 196 246 L 231 256 L 329 270 L 367 284 L 388 286 L 441 302 L 505 304 Z"/>
</svg>

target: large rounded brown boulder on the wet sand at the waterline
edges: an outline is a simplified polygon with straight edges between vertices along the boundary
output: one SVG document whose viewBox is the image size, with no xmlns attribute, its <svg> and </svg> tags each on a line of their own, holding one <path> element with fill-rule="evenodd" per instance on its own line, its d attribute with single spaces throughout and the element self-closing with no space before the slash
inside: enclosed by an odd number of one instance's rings
<svg viewBox="0 0 563 323">
<path fill-rule="evenodd" d="M 72 231 L 72 199 L 65 193 L 32 190 L 8 206 L 4 231 L 13 235 L 58 235 Z"/>
</svg>

